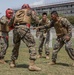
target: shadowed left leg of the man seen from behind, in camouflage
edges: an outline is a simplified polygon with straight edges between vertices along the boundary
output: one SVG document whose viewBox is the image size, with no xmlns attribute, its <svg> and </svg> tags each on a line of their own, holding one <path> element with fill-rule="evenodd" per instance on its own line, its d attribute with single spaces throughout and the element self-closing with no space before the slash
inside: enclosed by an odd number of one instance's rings
<svg viewBox="0 0 74 75">
<path fill-rule="evenodd" d="M 11 60 L 16 60 L 18 58 L 20 42 L 21 42 L 20 36 L 19 36 L 18 32 L 15 29 L 13 31 L 14 48 L 12 50 Z"/>
</svg>

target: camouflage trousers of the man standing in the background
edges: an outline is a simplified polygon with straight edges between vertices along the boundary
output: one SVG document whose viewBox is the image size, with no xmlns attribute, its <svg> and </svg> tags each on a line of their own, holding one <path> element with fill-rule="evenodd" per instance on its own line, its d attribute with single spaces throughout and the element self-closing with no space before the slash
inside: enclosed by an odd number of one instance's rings
<svg viewBox="0 0 74 75">
<path fill-rule="evenodd" d="M 50 31 L 48 31 L 47 33 L 42 33 L 40 34 L 39 37 L 39 54 L 42 54 L 42 50 L 43 50 L 43 45 L 45 48 L 45 54 L 49 55 L 49 40 L 50 40 Z"/>
</svg>

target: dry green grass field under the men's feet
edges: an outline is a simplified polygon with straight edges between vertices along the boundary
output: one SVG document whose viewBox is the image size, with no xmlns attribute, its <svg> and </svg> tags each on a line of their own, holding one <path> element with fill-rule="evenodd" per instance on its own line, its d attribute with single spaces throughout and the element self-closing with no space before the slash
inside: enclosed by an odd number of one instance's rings
<svg viewBox="0 0 74 75">
<path fill-rule="evenodd" d="M 31 72 L 28 70 L 29 53 L 25 44 L 20 46 L 16 68 L 11 69 L 9 67 L 9 62 L 12 48 L 13 47 L 10 45 L 7 50 L 7 54 L 5 56 L 7 63 L 0 64 L 0 75 L 74 75 L 74 67 L 72 66 L 74 61 L 69 58 L 64 48 L 62 48 L 58 53 L 57 64 L 53 66 L 48 65 L 48 62 L 51 62 L 52 49 L 50 49 L 50 60 L 46 60 L 44 58 L 45 54 L 43 51 L 43 58 L 37 59 L 36 61 L 36 65 L 42 68 L 42 71 L 39 72 Z"/>
</svg>

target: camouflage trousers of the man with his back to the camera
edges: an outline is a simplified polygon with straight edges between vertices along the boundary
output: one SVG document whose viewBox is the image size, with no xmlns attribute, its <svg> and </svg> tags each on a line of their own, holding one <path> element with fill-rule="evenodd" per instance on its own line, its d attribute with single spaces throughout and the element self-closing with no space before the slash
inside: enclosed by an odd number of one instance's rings
<svg viewBox="0 0 74 75">
<path fill-rule="evenodd" d="M 36 49 L 35 49 L 35 40 L 32 34 L 30 33 L 30 29 L 25 26 L 15 27 L 13 30 L 13 42 L 14 48 L 12 50 L 12 60 L 16 60 L 18 58 L 19 46 L 21 40 L 26 44 L 30 53 L 30 60 L 36 60 Z"/>
</svg>

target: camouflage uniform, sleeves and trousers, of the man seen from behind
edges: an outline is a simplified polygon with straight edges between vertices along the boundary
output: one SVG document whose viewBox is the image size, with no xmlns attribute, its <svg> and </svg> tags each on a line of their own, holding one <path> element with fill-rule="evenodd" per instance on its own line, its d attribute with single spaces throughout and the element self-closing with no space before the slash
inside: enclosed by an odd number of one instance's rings
<svg viewBox="0 0 74 75">
<path fill-rule="evenodd" d="M 25 9 L 21 9 L 25 10 Z M 28 12 L 28 16 L 38 22 L 38 17 L 32 13 L 31 10 Z M 11 19 L 9 25 L 11 25 L 14 22 L 15 18 Z M 13 31 L 13 42 L 14 42 L 14 48 L 12 50 L 12 60 L 16 60 L 18 58 L 19 53 L 19 46 L 21 40 L 26 44 L 26 46 L 29 48 L 30 53 L 30 60 L 36 60 L 36 49 L 35 49 L 35 40 L 32 34 L 30 33 L 30 29 L 26 26 L 27 23 L 21 24 L 21 23 L 14 23 L 14 31 Z"/>
</svg>

